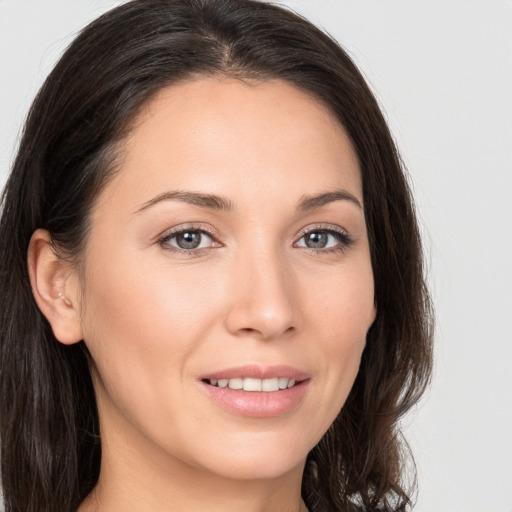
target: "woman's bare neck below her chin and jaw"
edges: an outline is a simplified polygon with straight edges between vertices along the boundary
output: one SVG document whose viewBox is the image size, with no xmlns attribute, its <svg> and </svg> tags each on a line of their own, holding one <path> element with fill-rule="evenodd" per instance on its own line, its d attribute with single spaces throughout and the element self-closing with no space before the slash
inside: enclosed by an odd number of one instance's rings
<svg viewBox="0 0 512 512">
<path fill-rule="evenodd" d="M 171 457 L 147 439 L 134 442 L 117 427 L 102 427 L 98 484 L 78 512 L 307 512 L 304 463 L 277 477 L 238 479 Z"/>
</svg>

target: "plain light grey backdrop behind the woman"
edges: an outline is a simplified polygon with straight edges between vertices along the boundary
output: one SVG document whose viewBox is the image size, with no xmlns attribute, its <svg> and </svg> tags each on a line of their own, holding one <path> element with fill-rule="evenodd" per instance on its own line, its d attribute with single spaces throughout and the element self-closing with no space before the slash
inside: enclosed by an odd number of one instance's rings
<svg viewBox="0 0 512 512">
<path fill-rule="evenodd" d="M 0 0 L 0 184 L 76 32 L 122 2 Z M 512 0 L 288 0 L 374 89 L 409 169 L 437 310 L 405 420 L 417 512 L 512 512 Z"/>
</svg>

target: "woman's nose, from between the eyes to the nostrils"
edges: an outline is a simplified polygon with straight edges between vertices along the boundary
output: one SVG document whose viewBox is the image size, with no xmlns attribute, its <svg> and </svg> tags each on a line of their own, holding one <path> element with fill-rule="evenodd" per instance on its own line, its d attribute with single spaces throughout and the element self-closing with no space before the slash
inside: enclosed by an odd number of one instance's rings
<svg viewBox="0 0 512 512">
<path fill-rule="evenodd" d="M 271 340 L 295 331 L 299 323 L 290 268 L 277 251 L 245 254 L 230 278 L 226 327 L 235 336 Z"/>
</svg>

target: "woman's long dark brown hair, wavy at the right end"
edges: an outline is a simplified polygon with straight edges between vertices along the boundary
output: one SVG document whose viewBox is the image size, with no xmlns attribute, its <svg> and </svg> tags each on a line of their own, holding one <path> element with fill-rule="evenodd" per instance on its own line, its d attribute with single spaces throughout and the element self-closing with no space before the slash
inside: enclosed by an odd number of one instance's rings
<svg viewBox="0 0 512 512">
<path fill-rule="evenodd" d="M 83 342 L 54 338 L 31 293 L 37 228 L 79 261 L 95 197 L 141 106 L 197 76 L 286 80 L 327 105 L 363 176 L 377 318 L 346 404 L 308 456 L 309 509 L 405 510 L 398 420 L 431 371 L 431 308 L 407 180 L 379 106 L 346 52 L 254 0 L 135 0 L 86 27 L 30 110 L 2 196 L 0 422 L 6 512 L 74 511 L 97 482 L 101 441 Z"/>
</svg>

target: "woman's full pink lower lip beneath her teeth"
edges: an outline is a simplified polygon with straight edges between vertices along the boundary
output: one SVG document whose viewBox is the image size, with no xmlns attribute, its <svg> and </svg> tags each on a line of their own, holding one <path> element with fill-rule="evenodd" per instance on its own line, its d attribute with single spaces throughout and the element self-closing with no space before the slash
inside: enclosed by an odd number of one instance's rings
<svg viewBox="0 0 512 512">
<path fill-rule="evenodd" d="M 309 380 L 279 391 L 243 391 L 219 388 L 201 382 L 210 398 L 223 409 L 239 416 L 273 418 L 290 412 L 303 400 Z"/>
</svg>

